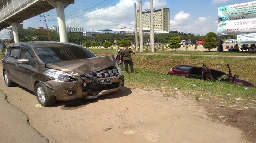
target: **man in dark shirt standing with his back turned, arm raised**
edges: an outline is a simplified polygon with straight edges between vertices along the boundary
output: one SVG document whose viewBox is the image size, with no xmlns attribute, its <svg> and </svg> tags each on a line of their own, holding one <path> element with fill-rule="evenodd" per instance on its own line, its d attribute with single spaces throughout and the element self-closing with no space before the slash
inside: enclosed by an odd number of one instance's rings
<svg viewBox="0 0 256 143">
<path fill-rule="evenodd" d="M 134 73 L 131 53 L 135 54 L 135 51 L 133 48 L 132 49 L 128 49 L 128 48 L 129 48 L 128 45 L 124 45 L 124 49 L 120 51 L 120 60 L 124 61 L 126 73 L 129 73 L 128 64 L 130 66 L 131 73 Z"/>
</svg>

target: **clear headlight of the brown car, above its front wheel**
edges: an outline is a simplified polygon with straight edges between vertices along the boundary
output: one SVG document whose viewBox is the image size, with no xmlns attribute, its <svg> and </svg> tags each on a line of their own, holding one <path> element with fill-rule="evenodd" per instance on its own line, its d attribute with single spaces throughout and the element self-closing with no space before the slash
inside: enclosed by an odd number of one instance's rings
<svg viewBox="0 0 256 143">
<path fill-rule="evenodd" d="M 65 82 L 70 81 L 71 78 L 74 78 L 74 76 L 67 74 L 63 71 L 56 70 L 56 69 L 47 69 L 43 73 L 50 76 L 53 79 L 57 79 L 60 81 L 65 81 Z"/>
</svg>

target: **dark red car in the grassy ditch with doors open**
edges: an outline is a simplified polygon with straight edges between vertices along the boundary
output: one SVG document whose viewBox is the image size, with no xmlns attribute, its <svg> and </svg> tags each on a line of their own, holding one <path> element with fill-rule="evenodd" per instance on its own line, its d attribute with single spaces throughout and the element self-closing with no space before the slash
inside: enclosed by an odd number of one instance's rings
<svg viewBox="0 0 256 143">
<path fill-rule="evenodd" d="M 227 67 L 229 68 L 228 74 L 215 69 L 207 68 L 206 65 L 204 65 L 204 63 L 203 63 L 203 67 L 194 67 L 190 65 L 176 65 L 175 67 L 170 69 L 170 71 L 168 72 L 168 75 L 178 75 L 178 76 L 185 76 L 188 78 L 204 79 L 204 80 L 219 80 L 223 82 L 232 82 L 236 84 L 241 83 L 243 86 L 254 87 L 254 85 L 250 82 L 237 79 L 239 77 L 238 75 L 232 76 L 232 73 L 228 64 L 227 64 Z"/>
</svg>

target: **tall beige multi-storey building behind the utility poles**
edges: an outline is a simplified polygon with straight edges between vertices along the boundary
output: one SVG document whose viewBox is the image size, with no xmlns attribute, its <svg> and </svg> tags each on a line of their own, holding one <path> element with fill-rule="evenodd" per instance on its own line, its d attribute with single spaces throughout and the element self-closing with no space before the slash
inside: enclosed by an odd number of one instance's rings
<svg viewBox="0 0 256 143">
<path fill-rule="evenodd" d="M 137 11 L 137 25 L 139 25 L 139 11 Z M 170 9 L 161 8 L 153 10 L 154 29 L 161 31 L 170 31 Z M 138 26 L 139 27 L 139 26 Z M 150 10 L 144 9 L 142 12 L 142 27 L 150 28 Z"/>
</svg>

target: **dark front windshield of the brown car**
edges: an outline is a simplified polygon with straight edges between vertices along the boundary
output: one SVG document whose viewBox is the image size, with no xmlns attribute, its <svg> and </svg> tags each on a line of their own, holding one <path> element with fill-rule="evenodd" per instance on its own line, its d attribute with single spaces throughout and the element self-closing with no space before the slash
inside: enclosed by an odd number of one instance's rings
<svg viewBox="0 0 256 143">
<path fill-rule="evenodd" d="M 34 50 L 44 63 L 54 63 L 60 61 L 70 61 L 96 57 L 87 49 L 78 46 L 38 47 L 34 48 Z"/>
</svg>

